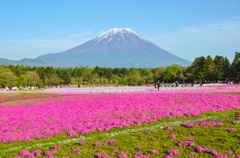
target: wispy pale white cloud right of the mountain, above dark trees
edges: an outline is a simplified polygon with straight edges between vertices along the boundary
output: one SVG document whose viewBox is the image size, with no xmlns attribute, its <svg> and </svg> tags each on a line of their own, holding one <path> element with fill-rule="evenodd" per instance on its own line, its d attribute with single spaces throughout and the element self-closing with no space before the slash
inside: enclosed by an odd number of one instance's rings
<svg viewBox="0 0 240 158">
<path fill-rule="evenodd" d="M 183 27 L 147 38 L 159 47 L 191 61 L 207 55 L 221 55 L 232 60 L 234 53 L 240 51 L 240 21 Z"/>
</svg>

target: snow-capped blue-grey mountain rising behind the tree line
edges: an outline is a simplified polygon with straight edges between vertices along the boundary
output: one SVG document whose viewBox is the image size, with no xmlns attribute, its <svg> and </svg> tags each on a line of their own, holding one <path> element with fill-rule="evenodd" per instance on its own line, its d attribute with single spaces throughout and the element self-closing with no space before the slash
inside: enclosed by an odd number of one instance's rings
<svg viewBox="0 0 240 158">
<path fill-rule="evenodd" d="M 155 68 L 191 62 L 171 54 L 140 37 L 129 28 L 113 28 L 95 39 L 60 53 L 41 55 L 35 59 L 22 59 L 24 65 L 54 67 L 101 66 Z M 1 60 L 0 60 L 1 63 Z"/>
</svg>

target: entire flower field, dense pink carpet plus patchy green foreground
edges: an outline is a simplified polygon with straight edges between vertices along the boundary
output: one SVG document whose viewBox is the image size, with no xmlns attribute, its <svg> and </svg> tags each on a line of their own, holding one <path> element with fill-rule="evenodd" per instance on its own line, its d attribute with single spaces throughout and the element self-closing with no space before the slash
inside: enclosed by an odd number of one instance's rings
<svg viewBox="0 0 240 158">
<path fill-rule="evenodd" d="M 2 93 L 0 157 L 240 157 L 232 88 Z"/>
</svg>

